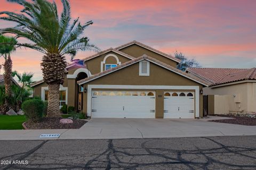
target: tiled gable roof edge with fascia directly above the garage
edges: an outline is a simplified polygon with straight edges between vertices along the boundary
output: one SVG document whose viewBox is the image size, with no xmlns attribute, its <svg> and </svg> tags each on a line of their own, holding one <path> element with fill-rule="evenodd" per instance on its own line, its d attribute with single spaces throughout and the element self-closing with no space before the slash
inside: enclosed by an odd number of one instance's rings
<svg viewBox="0 0 256 170">
<path fill-rule="evenodd" d="M 140 62 L 140 61 L 142 61 L 142 60 L 147 60 L 147 61 L 149 61 L 149 62 L 151 62 L 151 63 L 154 63 L 154 64 L 157 64 L 157 65 L 159 65 L 159 66 L 162 66 L 162 67 L 164 67 L 164 68 L 167 69 L 167 70 L 170 70 L 170 71 L 172 71 L 172 72 L 174 72 L 174 73 L 177 73 L 177 74 L 179 74 L 179 75 L 181 75 L 181 76 L 183 76 L 183 77 L 186 77 L 186 78 L 188 78 L 188 79 L 190 79 L 190 80 L 193 80 L 193 81 L 196 81 L 196 82 L 198 82 L 198 83 L 200 83 L 200 84 L 203 84 L 204 86 L 208 86 L 208 82 L 206 82 L 206 81 L 204 81 L 204 80 L 202 80 L 202 79 L 199 79 L 199 78 L 197 78 L 197 77 L 195 77 L 195 76 L 193 76 L 193 75 L 189 75 L 189 74 L 187 74 L 187 73 L 185 73 L 185 72 L 183 72 L 183 71 L 180 71 L 179 69 L 176 69 L 176 68 L 174 68 L 174 67 L 172 67 L 172 66 L 170 66 L 170 65 L 168 65 L 168 64 L 165 64 L 165 63 L 163 63 L 163 62 L 161 62 L 161 61 L 158 61 L 158 60 L 156 60 L 156 59 L 153 58 L 153 57 L 149 57 L 149 56 L 147 56 L 147 55 L 143 55 L 143 56 L 141 56 L 141 57 L 135 58 L 134 60 L 125 62 L 125 63 L 123 63 L 123 64 L 121 64 L 121 65 L 118 65 L 118 66 L 116 66 L 116 67 L 113 67 L 112 69 L 109 69 L 109 70 L 100 72 L 100 73 L 98 73 L 98 74 L 94 74 L 94 75 L 92 75 L 92 76 L 89 77 L 89 78 L 85 78 L 85 79 L 83 79 L 83 80 L 77 81 L 77 83 L 78 83 L 79 85 L 81 85 L 81 84 L 84 84 L 84 83 L 86 83 L 86 82 L 90 82 L 90 81 L 92 81 L 92 80 L 98 79 L 98 78 L 103 77 L 103 76 L 105 76 L 105 75 L 107 75 L 107 74 L 110 74 L 110 73 L 112 73 L 112 72 L 115 72 L 115 71 L 124 69 L 126 66 L 129 66 L 129 65 L 138 63 L 138 62 Z"/>
</svg>

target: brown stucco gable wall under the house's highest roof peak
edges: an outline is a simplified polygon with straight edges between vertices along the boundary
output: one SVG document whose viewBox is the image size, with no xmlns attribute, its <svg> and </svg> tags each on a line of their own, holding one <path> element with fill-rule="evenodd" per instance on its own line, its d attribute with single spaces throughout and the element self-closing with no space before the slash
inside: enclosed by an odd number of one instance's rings
<svg viewBox="0 0 256 170">
<path fill-rule="evenodd" d="M 165 64 L 171 65 L 173 67 L 177 66 L 177 62 L 135 44 L 122 48 L 120 49 L 120 51 L 129 54 L 133 57 L 141 57 L 143 54 L 146 54 L 150 57 L 156 58 L 156 60 L 159 60 Z"/>
</svg>

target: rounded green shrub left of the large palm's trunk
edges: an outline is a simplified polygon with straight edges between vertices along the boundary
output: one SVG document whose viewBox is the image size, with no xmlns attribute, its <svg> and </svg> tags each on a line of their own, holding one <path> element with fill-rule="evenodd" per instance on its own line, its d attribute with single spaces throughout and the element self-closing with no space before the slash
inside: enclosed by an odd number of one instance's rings
<svg viewBox="0 0 256 170">
<path fill-rule="evenodd" d="M 22 111 L 31 122 L 38 122 L 43 117 L 44 103 L 42 100 L 30 99 L 22 103 Z"/>
</svg>

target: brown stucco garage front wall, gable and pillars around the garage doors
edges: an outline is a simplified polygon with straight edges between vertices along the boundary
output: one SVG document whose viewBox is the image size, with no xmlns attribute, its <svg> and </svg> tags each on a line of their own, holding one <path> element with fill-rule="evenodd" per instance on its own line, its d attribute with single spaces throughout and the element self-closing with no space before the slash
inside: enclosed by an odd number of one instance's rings
<svg viewBox="0 0 256 170">
<path fill-rule="evenodd" d="M 175 74 L 166 70 L 162 67 L 159 67 L 153 63 L 150 63 L 150 76 L 141 77 L 139 76 L 139 63 L 135 63 L 131 66 L 127 66 L 122 70 L 113 72 L 111 74 L 105 75 L 99 79 L 95 79 L 91 82 L 85 84 L 108 84 L 108 85 L 151 85 L 151 86 L 199 86 L 202 88 L 202 85 L 189 80 L 181 75 Z M 135 89 L 134 89 L 135 90 Z M 138 89 L 137 89 L 138 90 Z M 143 89 L 142 89 L 143 90 Z M 156 117 L 163 117 L 164 102 L 163 97 L 164 91 L 167 90 L 155 90 L 156 91 Z M 169 89 L 172 90 L 172 89 Z M 158 97 L 162 95 L 162 97 Z M 84 103 L 83 103 L 83 112 L 87 112 L 87 93 L 84 94 Z M 200 95 L 199 98 L 199 115 L 203 116 L 203 95 Z"/>
</svg>

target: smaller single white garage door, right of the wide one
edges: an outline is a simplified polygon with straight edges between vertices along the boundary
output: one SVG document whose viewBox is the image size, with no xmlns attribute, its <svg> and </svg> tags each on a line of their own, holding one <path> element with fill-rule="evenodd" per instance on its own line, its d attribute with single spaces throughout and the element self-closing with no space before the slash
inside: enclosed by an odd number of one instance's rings
<svg viewBox="0 0 256 170">
<path fill-rule="evenodd" d="M 195 118 L 195 92 L 165 91 L 164 118 Z"/>
</svg>

